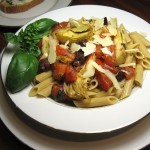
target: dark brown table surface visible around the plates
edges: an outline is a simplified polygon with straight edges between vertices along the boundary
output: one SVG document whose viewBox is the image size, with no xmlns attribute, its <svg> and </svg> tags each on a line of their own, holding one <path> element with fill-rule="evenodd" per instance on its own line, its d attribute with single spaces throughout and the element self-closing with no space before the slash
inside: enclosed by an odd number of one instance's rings
<svg viewBox="0 0 150 150">
<path fill-rule="evenodd" d="M 145 21 L 150 23 L 150 0 L 73 0 L 70 5 L 105 5 L 120 8 L 131 12 Z M 0 52 L 6 46 L 3 33 L 4 32 L 16 32 L 19 28 L 7 28 L 0 27 Z M 0 120 L 0 149 L 2 150 L 20 150 L 30 149 L 28 146 L 20 142 L 11 132 L 5 127 Z M 143 148 L 143 150 L 150 149 L 150 145 Z"/>
</svg>

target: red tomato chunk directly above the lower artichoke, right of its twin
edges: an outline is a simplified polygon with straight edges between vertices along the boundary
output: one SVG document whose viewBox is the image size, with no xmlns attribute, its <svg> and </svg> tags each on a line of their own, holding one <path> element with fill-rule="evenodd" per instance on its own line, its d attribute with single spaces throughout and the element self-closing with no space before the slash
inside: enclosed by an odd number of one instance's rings
<svg viewBox="0 0 150 150">
<path fill-rule="evenodd" d="M 71 66 L 68 65 L 65 72 L 65 82 L 70 84 L 77 80 L 77 72 L 76 70 Z"/>
</svg>

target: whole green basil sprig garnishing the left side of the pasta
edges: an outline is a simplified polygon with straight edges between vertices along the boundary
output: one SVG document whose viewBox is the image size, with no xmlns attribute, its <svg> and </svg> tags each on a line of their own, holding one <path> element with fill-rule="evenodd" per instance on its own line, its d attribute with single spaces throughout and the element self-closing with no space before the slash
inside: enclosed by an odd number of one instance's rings
<svg viewBox="0 0 150 150">
<path fill-rule="evenodd" d="M 11 93 L 16 93 L 28 86 L 38 71 L 38 57 L 41 54 L 37 43 L 57 24 L 56 21 L 43 18 L 29 24 L 25 30 L 20 30 L 18 35 L 5 33 L 5 39 L 18 45 L 8 66 L 6 75 L 6 88 Z"/>
</svg>

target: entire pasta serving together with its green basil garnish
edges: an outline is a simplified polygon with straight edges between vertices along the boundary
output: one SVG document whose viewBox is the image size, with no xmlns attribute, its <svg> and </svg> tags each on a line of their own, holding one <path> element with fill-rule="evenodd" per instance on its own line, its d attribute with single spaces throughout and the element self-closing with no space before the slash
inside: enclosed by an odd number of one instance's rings
<svg viewBox="0 0 150 150">
<path fill-rule="evenodd" d="M 112 105 L 141 87 L 150 69 L 150 42 L 117 18 L 43 18 L 5 37 L 19 45 L 6 76 L 11 93 L 32 82 L 29 96 L 76 107 Z"/>
</svg>

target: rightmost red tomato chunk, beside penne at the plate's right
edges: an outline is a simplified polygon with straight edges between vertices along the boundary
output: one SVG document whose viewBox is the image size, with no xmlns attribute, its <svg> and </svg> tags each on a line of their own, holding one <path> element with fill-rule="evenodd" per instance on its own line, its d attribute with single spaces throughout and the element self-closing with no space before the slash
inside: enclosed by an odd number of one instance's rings
<svg viewBox="0 0 150 150">
<path fill-rule="evenodd" d="M 122 70 L 127 71 L 128 73 L 125 72 L 125 77 L 127 80 L 133 78 L 135 76 L 135 69 L 131 66 L 124 67 Z"/>
</svg>

